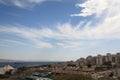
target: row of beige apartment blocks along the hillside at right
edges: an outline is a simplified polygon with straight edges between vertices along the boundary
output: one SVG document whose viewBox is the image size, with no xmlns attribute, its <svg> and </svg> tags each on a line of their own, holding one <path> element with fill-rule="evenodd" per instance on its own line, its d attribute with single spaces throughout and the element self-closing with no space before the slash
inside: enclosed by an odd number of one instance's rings
<svg viewBox="0 0 120 80">
<path fill-rule="evenodd" d="M 105 62 L 112 62 L 112 64 L 116 64 L 118 62 L 120 63 L 120 53 L 107 53 L 106 55 L 98 54 L 97 56 L 88 56 L 86 59 L 80 58 L 77 60 L 77 63 L 79 63 L 79 65 L 87 65 L 90 63 L 92 65 L 100 66 Z"/>
</svg>

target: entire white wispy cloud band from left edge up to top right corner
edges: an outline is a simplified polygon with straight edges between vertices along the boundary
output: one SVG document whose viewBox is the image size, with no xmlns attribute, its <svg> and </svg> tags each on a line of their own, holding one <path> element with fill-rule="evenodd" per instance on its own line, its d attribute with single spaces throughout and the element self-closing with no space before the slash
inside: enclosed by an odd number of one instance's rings
<svg viewBox="0 0 120 80">
<path fill-rule="evenodd" d="M 1 26 L 1 33 L 11 33 L 19 37 L 33 41 L 37 47 L 52 48 L 53 43 L 63 48 L 76 48 L 81 46 L 81 40 L 99 40 L 99 39 L 120 39 L 120 1 L 119 0 L 87 0 L 83 4 L 77 4 L 83 7 L 80 14 L 73 16 L 87 17 L 97 15 L 97 19 L 102 20 L 95 26 L 92 21 L 80 22 L 77 25 L 64 23 L 55 25 L 55 29 L 27 28 L 24 25 Z M 104 16 L 102 16 L 105 13 Z M 83 26 L 83 24 L 85 24 Z M 55 42 L 46 40 L 52 39 Z"/>
</svg>

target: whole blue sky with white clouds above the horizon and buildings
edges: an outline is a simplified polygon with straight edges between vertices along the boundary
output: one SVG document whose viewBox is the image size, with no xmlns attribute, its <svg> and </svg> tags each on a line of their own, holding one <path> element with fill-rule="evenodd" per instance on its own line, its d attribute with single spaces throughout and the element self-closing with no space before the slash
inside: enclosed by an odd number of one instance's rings
<svg viewBox="0 0 120 80">
<path fill-rule="evenodd" d="M 0 0 L 0 59 L 70 61 L 120 52 L 120 0 Z"/>
</svg>

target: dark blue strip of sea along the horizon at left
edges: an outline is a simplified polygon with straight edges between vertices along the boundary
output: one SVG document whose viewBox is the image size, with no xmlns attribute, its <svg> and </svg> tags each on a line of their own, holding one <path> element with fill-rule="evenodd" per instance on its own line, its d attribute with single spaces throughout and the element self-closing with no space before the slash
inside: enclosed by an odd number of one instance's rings
<svg viewBox="0 0 120 80">
<path fill-rule="evenodd" d="M 35 65 L 49 65 L 57 62 L 0 62 L 0 67 L 5 65 L 11 65 L 15 68 L 23 67 L 23 66 L 35 66 Z"/>
</svg>

